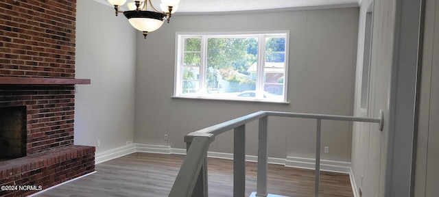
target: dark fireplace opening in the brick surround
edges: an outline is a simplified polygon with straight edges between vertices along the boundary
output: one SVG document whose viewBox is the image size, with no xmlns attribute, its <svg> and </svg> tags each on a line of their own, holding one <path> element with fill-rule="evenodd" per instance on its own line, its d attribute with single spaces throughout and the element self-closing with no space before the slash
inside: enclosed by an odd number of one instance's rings
<svg viewBox="0 0 439 197">
<path fill-rule="evenodd" d="M 0 107 L 0 161 L 26 156 L 26 107 Z"/>
</svg>

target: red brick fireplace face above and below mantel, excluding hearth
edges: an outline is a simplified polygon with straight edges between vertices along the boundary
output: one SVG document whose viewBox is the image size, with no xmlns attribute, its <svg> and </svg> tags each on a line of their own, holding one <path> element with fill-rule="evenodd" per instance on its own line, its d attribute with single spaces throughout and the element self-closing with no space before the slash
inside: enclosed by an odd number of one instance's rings
<svg viewBox="0 0 439 197">
<path fill-rule="evenodd" d="M 76 1 L 0 2 L 0 77 L 75 78 Z M 74 86 L 0 87 L 27 106 L 27 155 L 73 144 Z"/>
</svg>

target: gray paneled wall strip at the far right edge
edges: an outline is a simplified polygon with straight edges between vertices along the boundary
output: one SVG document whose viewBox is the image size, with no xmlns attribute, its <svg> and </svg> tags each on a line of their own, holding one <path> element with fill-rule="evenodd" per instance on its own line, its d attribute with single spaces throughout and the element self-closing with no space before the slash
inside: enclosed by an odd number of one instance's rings
<svg viewBox="0 0 439 197">
<path fill-rule="evenodd" d="M 414 196 L 439 194 L 439 3 L 425 6 L 423 66 Z"/>
</svg>

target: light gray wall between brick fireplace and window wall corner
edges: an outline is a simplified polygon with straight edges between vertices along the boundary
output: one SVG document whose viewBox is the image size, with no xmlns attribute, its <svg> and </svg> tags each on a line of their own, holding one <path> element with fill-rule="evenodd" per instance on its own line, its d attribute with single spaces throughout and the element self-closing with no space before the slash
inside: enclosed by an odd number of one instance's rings
<svg viewBox="0 0 439 197">
<path fill-rule="evenodd" d="M 78 1 L 76 78 L 91 85 L 78 85 L 75 94 L 75 144 L 100 140 L 100 153 L 133 140 L 135 33 L 109 6 Z"/>
</svg>

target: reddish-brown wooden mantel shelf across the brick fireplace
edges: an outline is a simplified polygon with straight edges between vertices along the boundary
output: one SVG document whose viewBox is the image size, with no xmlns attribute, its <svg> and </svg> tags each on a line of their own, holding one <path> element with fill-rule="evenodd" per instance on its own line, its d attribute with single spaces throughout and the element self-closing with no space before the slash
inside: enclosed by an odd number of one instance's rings
<svg viewBox="0 0 439 197">
<path fill-rule="evenodd" d="M 43 77 L 0 77 L 0 85 L 73 85 L 90 84 L 90 79 L 43 78 Z"/>
</svg>

